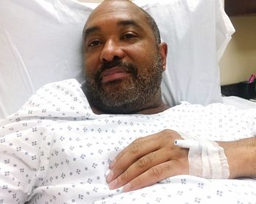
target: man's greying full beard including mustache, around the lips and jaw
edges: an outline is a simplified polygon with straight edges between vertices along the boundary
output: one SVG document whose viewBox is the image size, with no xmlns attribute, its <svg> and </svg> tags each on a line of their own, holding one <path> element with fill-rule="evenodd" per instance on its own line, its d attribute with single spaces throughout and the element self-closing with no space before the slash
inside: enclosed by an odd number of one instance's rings
<svg viewBox="0 0 256 204">
<path fill-rule="evenodd" d="M 129 71 L 129 76 L 102 85 L 102 73 L 119 66 Z M 150 66 L 137 67 L 133 63 L 113 60 L 105 63 L 93 74 L 86 74 L 85 93 L 91 106 L 108 114 L 132 114 L 151 107 L 159 97 L 162 81 L 162 60 L 157 58 Z"/>
</svg>

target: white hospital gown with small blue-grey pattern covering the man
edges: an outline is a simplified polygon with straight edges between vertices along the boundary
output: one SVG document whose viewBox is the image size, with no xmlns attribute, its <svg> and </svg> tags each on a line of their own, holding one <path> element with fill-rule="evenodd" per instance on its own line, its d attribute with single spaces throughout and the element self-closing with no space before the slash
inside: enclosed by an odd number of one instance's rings
<svg viewBox="0 0 256 204">
<path fill-rule="evenodd" d="M 256 136 L 256 109 L 182 103 L 159 114 L 93 114 L 75 79 L 45 85 L 0 121 L 0 203 L 256 203 L 256 181 L 174 176 L 109 190 L 111 160 L 135 138 L 173 129 L 212 140 Z"/>
</svg>

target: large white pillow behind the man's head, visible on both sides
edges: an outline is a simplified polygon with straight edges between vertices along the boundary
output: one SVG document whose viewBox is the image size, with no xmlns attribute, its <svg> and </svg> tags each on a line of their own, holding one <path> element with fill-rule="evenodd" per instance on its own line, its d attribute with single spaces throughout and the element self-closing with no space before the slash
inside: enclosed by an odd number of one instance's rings
<svg viewBox="0 0 256 204">
<path fill-rule="evenodd" d="M 217 59 L 233 33 L 222 0 L 134 2 L 155 18 L 169 45 L 165 102 L 221 101 Z M 0 1 L 0 118 L 17 111 L 45 83 L 83 81 L 82 30 L 96 6 L 75 0 Z"/>
</svg>

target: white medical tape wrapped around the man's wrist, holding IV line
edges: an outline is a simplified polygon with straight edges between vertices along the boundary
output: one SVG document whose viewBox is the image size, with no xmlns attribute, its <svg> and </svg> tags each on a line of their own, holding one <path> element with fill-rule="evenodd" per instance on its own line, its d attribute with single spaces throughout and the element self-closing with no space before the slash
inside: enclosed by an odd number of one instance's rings
<svg viewBox="0 0 256 204">
<path fill-rule="evenodd" d="M 203 178 L 228 178 L 230 176 L 224 149 L 215 141 L 180 133 L 184 140 L 176 140 L 175 145 L 189 149 L 189 175 Z"/>
</svg>

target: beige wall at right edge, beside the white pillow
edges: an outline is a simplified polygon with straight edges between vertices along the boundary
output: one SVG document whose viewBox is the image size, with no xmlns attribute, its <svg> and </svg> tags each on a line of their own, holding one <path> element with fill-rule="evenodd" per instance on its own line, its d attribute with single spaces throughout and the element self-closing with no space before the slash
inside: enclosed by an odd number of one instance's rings
<svg viewBox="0 0 256 204">
<path fill-rule="evenodd" d="M 246 81 L 256 74 L 256 15 L 230 17 L 236 33 L 220 60 L 222 85 Z"/>
</svg>

